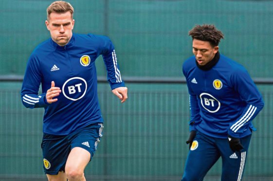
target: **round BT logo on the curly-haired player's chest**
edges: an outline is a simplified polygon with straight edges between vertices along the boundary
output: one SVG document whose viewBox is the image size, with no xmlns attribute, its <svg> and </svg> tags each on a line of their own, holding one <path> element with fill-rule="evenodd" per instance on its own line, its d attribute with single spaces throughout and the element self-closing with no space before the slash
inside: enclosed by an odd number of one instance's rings
<svg viewBox="0 0 273 181">
<path fill-rule="evenodd" d="M 220 102 L 209 93 L 200 94 L 201 105 L 209 112 L 217 112 L 220 109 Z"/>
</svg>

